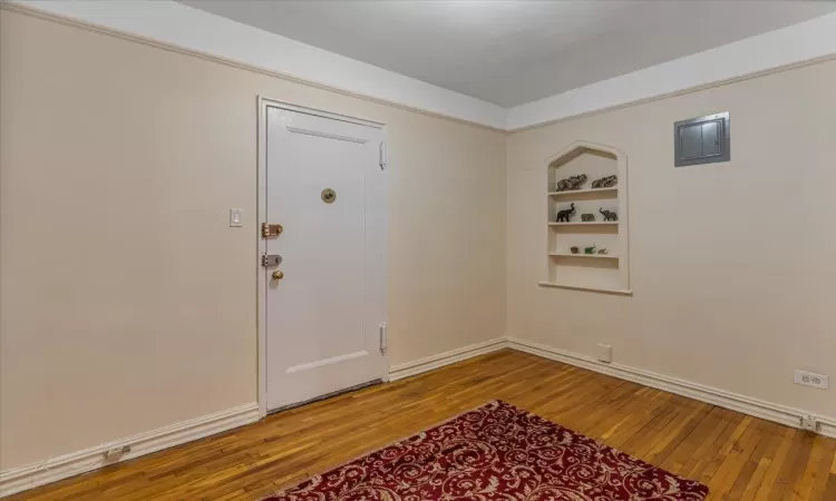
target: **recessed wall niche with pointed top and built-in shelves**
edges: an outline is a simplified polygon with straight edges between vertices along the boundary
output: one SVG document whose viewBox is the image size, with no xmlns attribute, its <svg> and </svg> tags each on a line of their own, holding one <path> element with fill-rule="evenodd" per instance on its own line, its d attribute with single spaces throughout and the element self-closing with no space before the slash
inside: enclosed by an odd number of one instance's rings
<svg viewBox="0 0 836 501">
<path fill-rule="evenodd" d="M 628 245 L 626 156 L 611 146 L 577 141 L 546 161 L 546 225 L 544 287 L 631 295 L 630 247 Z M 558 180 L 586 175 L 581 189 L 557 191 Z M 592 181 L 616 175 L 619 183 L 607 188 L 592 188 Z M 558 223 L 557 213 L 574 204 L 570 222 Z M 599 212 L 612 210 L 619 220 L 603 220 Z M 593 214 L 595 220 L 581 220 Z M 583 254 L 583 248 L 606 247 L 607 254 Z M 581 248 L 572 254 L 571 247 Z"/>
</svg>

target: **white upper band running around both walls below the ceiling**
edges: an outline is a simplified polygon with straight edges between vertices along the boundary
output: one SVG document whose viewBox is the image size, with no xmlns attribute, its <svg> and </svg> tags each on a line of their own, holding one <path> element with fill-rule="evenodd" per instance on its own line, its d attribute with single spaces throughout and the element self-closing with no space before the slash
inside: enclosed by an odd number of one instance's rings
<svg viewBox="0 0 836 501">
<path fill-rule="evenodd" d="M 518 131 L 836 58 L 836 13 L 512 108 L 270 33 L 172 0 L 0 0 L 280 78 L 493 129 Z"/>
</svg>

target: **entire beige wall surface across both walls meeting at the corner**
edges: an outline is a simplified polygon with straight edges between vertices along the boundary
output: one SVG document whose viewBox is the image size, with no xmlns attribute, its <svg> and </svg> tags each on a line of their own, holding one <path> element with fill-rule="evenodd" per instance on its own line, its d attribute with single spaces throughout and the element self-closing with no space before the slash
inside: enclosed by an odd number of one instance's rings
<svg viewBox="0 0 836 501">
<path fill-rule="evenodd" d="M 0 470 L 255 401 L 257 95 L 389 124 L 392 364 L 507 306 L 509 335 L 836 416 L 791 379 L 836 375 L 836 62 L 506 138 L 0 17 Z M 672 122 L 723 110 L 732 161 L 673 168 Z M 579 139 L 628 155 L 633 297 L 536 285 L 544 160 Z"/>
</svg>

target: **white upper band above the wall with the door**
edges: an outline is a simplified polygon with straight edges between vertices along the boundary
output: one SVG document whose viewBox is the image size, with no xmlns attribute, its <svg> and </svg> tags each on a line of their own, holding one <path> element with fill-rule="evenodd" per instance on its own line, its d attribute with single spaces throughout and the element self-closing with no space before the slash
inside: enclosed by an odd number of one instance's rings
<svg viewBox="0 0 836 501">
<path fill-rule="evenodd" d="M 505 128 L 505 108 L 498 105 L 172 0 L 12 0 L 10 3 L 246 65 L 283 78 Z"/>
</svg>

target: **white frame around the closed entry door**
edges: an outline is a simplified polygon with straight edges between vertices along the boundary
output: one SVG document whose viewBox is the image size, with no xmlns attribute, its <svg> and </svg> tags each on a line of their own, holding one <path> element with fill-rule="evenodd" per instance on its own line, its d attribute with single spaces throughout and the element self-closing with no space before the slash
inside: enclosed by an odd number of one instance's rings
<svg viewBox="0 0 836 501">
<path fill-rule="evenodd" d="M 268 341 L 268 308 L 266 308 L 266 301 L 268 301 L 268 279 L 266 279 L 266 268 L 264 268 L 261 265 L 261 256 L 263 254 L 266 254 L 268 249 L 268 243 L 264 238 L 261 237 L 261 225 L 262 223 L 268 223 L 268 186 L 266 186 L 266 174 L 268 174 L 268 159 L 266 159 L 266 151 L 268 151 L 268 108 L 280 108 L 280 109 L 286 109 L 290 111 L 295 111 L 300 114 L 305 115 L 313 115 L 317 117 L 322 118 L 330 118 L 333 120 L 341 120 L 341 121 L 348 121 L 351 124 L 358 124 L 367 127 L 373 127 L 377 129 L 380 129 L 383 134 L 383 143 L 388 143 L 388 134 L 387 134 L 387 126 L 383 122 L 380 121 L 373 121 L 373 120 L 367 120 L 363 118 L 357 118 L 351 117 L 348 115 L 340 115 L 334 114 L 331 111 L 324 111 L 321 109 L 315 108 L 308 108 L 304 106 L 293 105 L 291 102 L 281 101 L 278 99 L 271 99 L 264 96 L 257 97 L 257 163 L 259 163 L 259 179 L 257 179 L 257 195 L 256 195 L 256 205 L 257 205 L 257 222 L 255 227 L 255 238 L 257 242 L 256 245 L 256 256 L 255 256 L 255 275 L 257 277 L 256 282 L 256 288 L 257 288 L 257 307 L 256 307 L 256 323 L 257 323 L 257 330 L 259 330 L 259 337 L 257 337 L 257 394 L 259 394 L 259 415 L 260 418 L 264 418 L 268 415 L 268 356 L 266 356 L 266 341 Z M 391 164 L 388 161 L 382 167 L 383 175 L 387 175 L 389 170 L 389 166 Z M 387 176 L 388 177 L 388 176 Z M 382 273 L 383 281 L 382 281 L 382 296 L 383 296 L 383 318 L 382 322 L 387 322 L 389 320 L 389 302 L 388 302 L 388 291 L 387 291 L 387 259 L 388 259 L 388 235 L 389 235 L 389 225 L 388 225 L 388 213 L 389 213 L 389 203 L 388 203 L 388 183 L 383 184 L 387 188 L 383 190 L 383 193 L 380 194 L 373 194 L 372 196 L 380 196 L 382 197 L 381 204 L 379 206 L 386 207 L 386 224 L 383 227 L 383 248 L 381 249 L 381 256 L 378 263 L 371 264 L 380 266 L 380 272 Z M 383 374 L 380 374 L 380 379 L 383 381 L 388 381 L 389 379 L 389 372 L 387 367 L 389 366 L 389 351 L 383 352 L 383 364 L 385 367 Z"/>
</svg>

